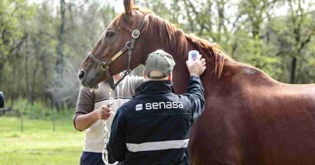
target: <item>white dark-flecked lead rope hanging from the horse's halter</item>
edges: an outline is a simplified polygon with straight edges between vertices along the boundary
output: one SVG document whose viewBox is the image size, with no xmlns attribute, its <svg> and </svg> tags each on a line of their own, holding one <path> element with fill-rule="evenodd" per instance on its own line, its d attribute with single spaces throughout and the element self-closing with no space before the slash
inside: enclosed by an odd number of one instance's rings
<svg viewBox="0 0 315 165">
<path fill-rule="evenodd" d="M 112 89 L 109 90 L 109 100 L 108 100 L 108 103 L 109 103 L 109 107 L 111 107 L 113 104 L 114 104 L 115 100 L 112 98 Z M 115 114 L 113 111 L 111 111 L 111 113 L 113 114 L 113 116 L 115 117 Z M 106 120 L 103 120 L 103 124 L 104 124 L 104 148 L 103 148 L 103 151 L 102 151 L 102 159 L 103 159 L 103 162 L 105 163 L 105 165 L 116 165 L 118 164 L 118 162 L 115 162 L 114 164 L 110 164 L 108 162 L 108 152 L 107 152 L 107 149 L 106 149 L 106 144 L 107 144 L 107 141 L 109 140 L 109 131 L 106 127 Z"/>
</svg>

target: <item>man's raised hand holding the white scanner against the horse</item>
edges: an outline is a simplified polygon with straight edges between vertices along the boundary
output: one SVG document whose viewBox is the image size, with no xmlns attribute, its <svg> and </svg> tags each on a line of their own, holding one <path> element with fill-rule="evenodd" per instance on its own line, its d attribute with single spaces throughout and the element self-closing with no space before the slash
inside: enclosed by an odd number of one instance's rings
<svg viewBox="0 0 315 165">
<path fill-rule="evenodd" d="M 188 60 L 186 61 L 186 65 L 188 68 L 188 71 L 190 73 L 190 76 L 200 76 L 201 74 L 203 74 L 204 70 L 206 70 L 206 60 L 204 58 L 202 58 L 202 55 L 200 54 L 195 63 L 192 65 L 189 65 Z"/>
</svg>

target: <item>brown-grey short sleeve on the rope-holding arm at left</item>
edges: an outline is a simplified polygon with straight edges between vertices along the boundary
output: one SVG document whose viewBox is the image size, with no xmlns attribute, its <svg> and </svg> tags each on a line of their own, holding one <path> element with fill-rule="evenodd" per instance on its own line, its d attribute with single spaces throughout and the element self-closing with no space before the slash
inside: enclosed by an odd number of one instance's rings
<svg viewBox="0 0 315 165">
<path fill-rule="evenodd" d="M 76 128 L 75 119 L 82 114 L 88 114 L 93 112 L 94 109 L 94 95 L 89 91 L 88 88 L 84 88 L 81 86 L 79 91 L 79 96 L 77 99 L 76 109 L 73 115 L 73 124 L 74 128 Z M 76 128 L 77 129 L 77 128 Z"/>
</svg>

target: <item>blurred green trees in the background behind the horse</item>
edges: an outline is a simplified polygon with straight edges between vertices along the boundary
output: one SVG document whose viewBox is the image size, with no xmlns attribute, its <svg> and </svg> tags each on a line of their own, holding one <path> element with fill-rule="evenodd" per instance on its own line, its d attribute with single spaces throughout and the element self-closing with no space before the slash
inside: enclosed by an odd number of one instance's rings
<svg viewBox="0 0 315 165">
<path fill-rule="evenodd" d="M 64 19 L 60 2 L 65 2 Z M 117 15 L 115 3 L 121 1 L 2 0 L 0 91 L 10 100 L 6 105 L 33 109 L 34 118 L 51 113 L 51 107 L 74 107 L 78 68 Z M 152 9 L 186 33 L 219 43 L 236 61 L 275 80 L 315 82 L 314 0 L 136 0 L 135 4 Z M 56 81 L 60 44 L 64 72 Z M 55 100 L 61 104 L 56 106 Z"/>
</svg>

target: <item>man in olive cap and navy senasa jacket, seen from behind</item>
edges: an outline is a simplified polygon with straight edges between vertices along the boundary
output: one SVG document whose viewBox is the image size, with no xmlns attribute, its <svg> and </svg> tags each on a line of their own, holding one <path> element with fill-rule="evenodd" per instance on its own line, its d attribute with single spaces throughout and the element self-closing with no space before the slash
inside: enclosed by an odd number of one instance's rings
<svg viewBox="0 0 315 165">
<path fill-rule="evenodd" d="M 111 127 L 107 151 L 125 164 L 187 164 L 192 124 L 203 112 L 205 101 L 199 76 L 205 59 L 186 62 L 191 77 L 187 94 L 175 95 L 172 71 L 175 62 L 161 50 L 149 54 L 139 85 L 140 93 L 118 108 Z"/>
</svg>

